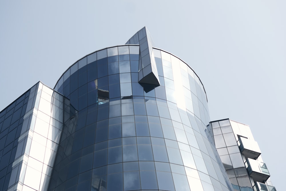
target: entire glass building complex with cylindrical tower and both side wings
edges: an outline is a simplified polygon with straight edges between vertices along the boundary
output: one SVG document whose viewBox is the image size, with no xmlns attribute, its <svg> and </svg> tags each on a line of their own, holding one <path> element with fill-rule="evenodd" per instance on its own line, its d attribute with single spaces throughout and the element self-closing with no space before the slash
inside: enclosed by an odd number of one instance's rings
<svg viewBox="0 0 286 191">
<path fill-rule="evenodd" d="M 249 126 L 142 28 L 0 112 L 0 190 L 275 191 Z"/>
</svg>

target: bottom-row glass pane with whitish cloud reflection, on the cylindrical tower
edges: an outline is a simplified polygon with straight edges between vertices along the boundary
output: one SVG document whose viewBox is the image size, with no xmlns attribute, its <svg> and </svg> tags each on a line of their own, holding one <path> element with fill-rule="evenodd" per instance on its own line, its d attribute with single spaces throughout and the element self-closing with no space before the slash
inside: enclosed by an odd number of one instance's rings
<svg viewBox="0 0 286 191">
<path fill-rule="evenodd" d="M 124 190 L 140 190 L 139 171 L 124 172 Z"/>
</svg>

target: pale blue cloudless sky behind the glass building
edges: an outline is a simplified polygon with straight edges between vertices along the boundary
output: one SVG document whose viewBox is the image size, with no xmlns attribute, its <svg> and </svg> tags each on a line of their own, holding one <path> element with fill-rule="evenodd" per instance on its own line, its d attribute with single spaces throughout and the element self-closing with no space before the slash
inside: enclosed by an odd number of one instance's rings
<svg viewBox="0 0 286 191">
<path fill-rule="evenodd" d="M 0 110 L 76 60 L 125 44 L 146 25 L 204 84 L 211 120 L 250 125 L 284 190 L 285 0 L 0 1 Z"/>
</svg>

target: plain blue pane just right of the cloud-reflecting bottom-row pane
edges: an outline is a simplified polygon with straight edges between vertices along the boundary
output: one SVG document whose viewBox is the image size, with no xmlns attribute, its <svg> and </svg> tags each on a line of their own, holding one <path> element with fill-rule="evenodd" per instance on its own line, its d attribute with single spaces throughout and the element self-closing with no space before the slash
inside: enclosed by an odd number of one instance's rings
<svg viewBox="0 0 286 191">
<path fill-rule="evenodd" d="M 140 179 L 142 190 L 158 190 L 157 178 L 154 171 L 140 171 Z"/>
</svg>

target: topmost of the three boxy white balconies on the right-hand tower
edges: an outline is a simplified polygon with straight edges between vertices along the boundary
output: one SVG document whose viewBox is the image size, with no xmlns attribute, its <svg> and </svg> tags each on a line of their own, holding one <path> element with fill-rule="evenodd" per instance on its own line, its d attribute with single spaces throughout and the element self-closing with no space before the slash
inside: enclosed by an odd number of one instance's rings
<svg viewBox="0 0 286 191">
<path fill-rule="evenodd" d="M 246 158 L 257 159 L 261 154 L 256 141 L 239 137 L 239 149 Z"/>
</svg>

